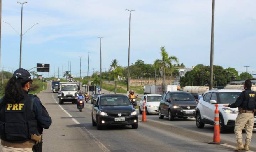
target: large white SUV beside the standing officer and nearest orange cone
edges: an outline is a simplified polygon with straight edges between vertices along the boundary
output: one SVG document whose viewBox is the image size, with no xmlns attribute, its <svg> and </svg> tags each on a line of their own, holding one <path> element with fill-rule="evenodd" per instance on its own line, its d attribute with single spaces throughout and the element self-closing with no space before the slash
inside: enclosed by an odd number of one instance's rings
<svg viewBox="0 0 256 152">
<path fill-rule="evenodd" d="M 219 109 L 220 133 L 234 128 L 235 119 L 238 116 L 238 108 L 223 107 L 224 104 L 233 104 L 242 90 L 209 90 L 204 93 L 196 108 L 197 128 L 203 128 L 204 124 L 214 125 L 215 104 Z"/>
</svg>

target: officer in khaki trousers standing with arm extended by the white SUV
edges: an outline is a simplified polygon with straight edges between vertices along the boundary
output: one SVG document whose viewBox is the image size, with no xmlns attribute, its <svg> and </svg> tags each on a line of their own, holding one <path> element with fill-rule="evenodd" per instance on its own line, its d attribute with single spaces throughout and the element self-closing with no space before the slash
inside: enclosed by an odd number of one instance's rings
<svg viewBox="0 0 256 152">
<path fill-rule="evenodd" d="M 252 130 L 254 126 L 254 110 L 256 108 L 256 93 L 251 90 L 252 83 L 250 80 L 246 80 L 244 83 L 244 89 L 236 102 L 230 105 L 224 105 L 224 107 L 239 109 L 238 117 L 235 121 L 235 136 L 238 146 L 234 151 L 245 150 L 249 151 L 249 144 L 251 141 Z M 242 129 L 246 131 L 245 145 L 242 144 Z"/>
</svg>

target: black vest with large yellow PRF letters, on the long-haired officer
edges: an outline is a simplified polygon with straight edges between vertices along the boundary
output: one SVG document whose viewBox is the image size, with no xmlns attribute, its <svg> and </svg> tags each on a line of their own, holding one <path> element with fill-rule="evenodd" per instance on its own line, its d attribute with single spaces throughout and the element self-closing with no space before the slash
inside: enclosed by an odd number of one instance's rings
<svg viewBox="0 0 256 152">
<path fill-rule="evenodd" d="M 25 142 L 37 134 L 37 121 L 33 112 L 32 98 L 22 99 L 17 104 L 5 104 L 0 109 L 0 136 L 8 142 Z"/>
</svg>

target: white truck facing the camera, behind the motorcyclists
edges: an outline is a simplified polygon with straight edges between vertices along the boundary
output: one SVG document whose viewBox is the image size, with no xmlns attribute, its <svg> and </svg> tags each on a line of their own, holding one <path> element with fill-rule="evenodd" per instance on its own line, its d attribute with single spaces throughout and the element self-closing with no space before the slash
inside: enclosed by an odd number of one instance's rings
<svg viewBox="0 0 256 152">
<path fill-rule="evenodd" d="M 76 82 L 60 82 L 60 90 L 58 93 L 59 104 L 64 102 L 72 102 L 73 104 L 77 101 L 78 90 L 80 90 Z"/>
</svg>

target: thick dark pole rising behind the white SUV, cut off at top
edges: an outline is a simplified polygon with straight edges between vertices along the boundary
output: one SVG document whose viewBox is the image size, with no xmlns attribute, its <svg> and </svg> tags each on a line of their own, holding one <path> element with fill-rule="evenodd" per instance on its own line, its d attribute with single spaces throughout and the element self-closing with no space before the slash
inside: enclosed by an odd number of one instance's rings
<svg viewBox="0 0 256 152">
<path fill-rule="evenodd" d="M 214 46 L 214 7 L 215 0 L 212 0 L 212 35 L 211 35 L 211 46 L 210 46 L 210 87 L 209 90 L 213 87 L 213 46 Z"/>
</svg>

